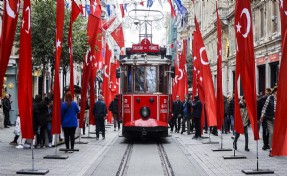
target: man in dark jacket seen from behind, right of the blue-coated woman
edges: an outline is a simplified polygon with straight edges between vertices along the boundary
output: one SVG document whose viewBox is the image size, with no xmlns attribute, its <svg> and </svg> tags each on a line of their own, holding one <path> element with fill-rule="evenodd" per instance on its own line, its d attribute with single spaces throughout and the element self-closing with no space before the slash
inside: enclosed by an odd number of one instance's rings
<svg viewBox="0 0 287 176">
<path fill-rule="evenodd" d="M 98 101 L 94 104 L 93 114 L 96 121 L 96 139 L 99 139 L 100 130 L 102 132 L 103 139 L 105 139 L 105 118 L 107 115 L 107 106 L 103 101 L 103 96 L 98 96 Z"/>
</svg>

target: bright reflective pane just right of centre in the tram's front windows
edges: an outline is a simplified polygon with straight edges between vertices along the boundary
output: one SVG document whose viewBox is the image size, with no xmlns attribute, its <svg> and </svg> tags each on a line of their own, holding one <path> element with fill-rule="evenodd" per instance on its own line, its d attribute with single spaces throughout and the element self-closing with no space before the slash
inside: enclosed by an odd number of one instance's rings
<svg viewBox="0 0 287 176">
<path fill-rule="evenodd" d="M 156 92 L 156 67 L 146 66 L 147 92 Z"/>
</svg>

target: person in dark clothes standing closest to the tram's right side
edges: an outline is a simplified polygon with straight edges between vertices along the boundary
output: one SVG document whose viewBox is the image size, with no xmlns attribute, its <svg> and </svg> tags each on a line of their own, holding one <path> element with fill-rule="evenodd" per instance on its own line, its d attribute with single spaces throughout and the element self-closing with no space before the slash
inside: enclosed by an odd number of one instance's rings
<svg viewBox="0 0 287 176">
<path fill-rule="evenodd" d="M 179 133 L 180 130 L 180 119 L 182 116 L 182 103 L 180 102 L 179 95 L 176 96 L 176 100 L 172 103 L 172 118 L 170 122 L 170 130 L 173 132 L 173 127 L 175 127 L 175 132 Z M 179 124 L 177 126 L 176 120 L 180 118 Z"/>
</svg>

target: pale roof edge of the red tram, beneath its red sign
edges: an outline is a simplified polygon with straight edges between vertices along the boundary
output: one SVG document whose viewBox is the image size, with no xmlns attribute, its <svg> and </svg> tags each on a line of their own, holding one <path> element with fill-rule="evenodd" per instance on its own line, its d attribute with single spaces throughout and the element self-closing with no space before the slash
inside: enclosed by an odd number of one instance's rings
<svg viewBox="0 0 287 176">
<path fill-rule="evenodd" d="M 161 55 L 133 54 L 130 57 L 123 57 L 120 63 L 124 65 L 169 65 L 172 62 L 168 57 L 162 58 Z"/>
</svg>

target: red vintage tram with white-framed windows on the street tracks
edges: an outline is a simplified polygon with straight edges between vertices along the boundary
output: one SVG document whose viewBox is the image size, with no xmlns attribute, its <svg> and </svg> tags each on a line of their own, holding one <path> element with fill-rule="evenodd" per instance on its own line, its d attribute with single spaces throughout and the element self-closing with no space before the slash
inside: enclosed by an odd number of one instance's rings
<svg viewBox="0 0 287 176">
<path fill-rule="evenodd" d="M 151 44 L 147 38 L 127 48 L 117 77 L 123 136 L 167 137 L 174 68 L 166 48 Z"/>
</svg>

